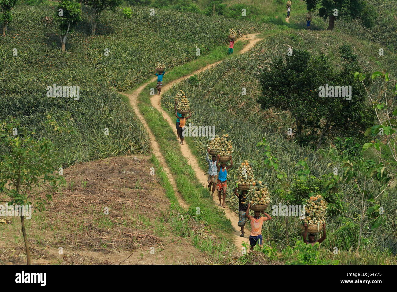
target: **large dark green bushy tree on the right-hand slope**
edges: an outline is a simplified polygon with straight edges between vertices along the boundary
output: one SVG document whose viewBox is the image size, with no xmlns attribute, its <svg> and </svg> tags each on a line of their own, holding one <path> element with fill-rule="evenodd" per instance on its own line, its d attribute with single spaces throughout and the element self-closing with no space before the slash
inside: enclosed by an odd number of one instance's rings
<svg viewBox="0 0 397 292">
<path fill-rule="evenodd" d="M 318 149 L 327 137 L 358 136 L 374 120 L 374 113 L 366 105 L 364 89 L 351 73 L 356 68 L 357 62 L 343 62 L 343 69 L 336 71 L 326 56 L 313 57 L 306 51 L 294 50 L 285 61 L 278 58 L 269 72 L 262 72 L 258 102 L 264 109 L 276 107 L 291 112 L 301 144 L 317 143 Z M 320 87 L 326 84 L 351 86 L 351 99 L 320 96 Z"/>
</svg>

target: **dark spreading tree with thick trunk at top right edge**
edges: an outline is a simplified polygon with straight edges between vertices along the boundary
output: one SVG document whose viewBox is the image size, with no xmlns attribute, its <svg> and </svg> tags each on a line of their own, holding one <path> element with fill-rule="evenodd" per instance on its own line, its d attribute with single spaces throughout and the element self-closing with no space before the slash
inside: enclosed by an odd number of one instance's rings
<svg viewBox="0 0 397 292">
<path fill-rule="evenodd" d="M 324 20 L 329 18 L 328 30 L 333 30 L 335 25 L 335 10 L 337 16 L 342 16 L 346 21 L 359 18 L 362 25 L 370 28 L 374 25 L 375 8 L 367 4 L 366 0 L 305 0 L 307 10 L 314 10 L 320 5 L 318 15 Z"/>
</svg>

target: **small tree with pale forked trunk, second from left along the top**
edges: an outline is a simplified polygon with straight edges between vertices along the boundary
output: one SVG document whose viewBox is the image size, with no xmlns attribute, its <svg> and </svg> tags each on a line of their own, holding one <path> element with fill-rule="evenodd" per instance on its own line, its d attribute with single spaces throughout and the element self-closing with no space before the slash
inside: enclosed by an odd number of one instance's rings
<svg viewBox="0 0 397 292">
<path fill-rule="evenodd" d="M 63 0 L 56 9 L 55 18 L 61 30 L 62 52 L 65 52 L 67 34 L 81 20 L 81 5 L 73 0 Z"/>
</svg>

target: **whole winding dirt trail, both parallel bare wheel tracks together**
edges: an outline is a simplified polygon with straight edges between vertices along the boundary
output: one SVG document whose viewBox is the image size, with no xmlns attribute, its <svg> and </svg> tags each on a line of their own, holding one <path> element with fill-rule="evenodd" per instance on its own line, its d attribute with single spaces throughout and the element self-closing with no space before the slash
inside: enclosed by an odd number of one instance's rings
<svg viewBox="0 0 397 292">
<path fill-rule="evenodd" d="M 256 38 L 256 36 L 258 35 L 258 33 L 252 33 L 252 34 L 248 34 L 248 35 L 244 35 L 243 37 L 241 37 L 242 40 L 248 40 L 249 43 L 246 44 L 244 46 L 243 49 L 241 49 L 239 51 L 239 54 L 243 54 L 245 52 L 247 52 L 248 50 L 250 50 L 258 41 L 261 41 L 262 39 L 258 39 Z M 168 122 L 168 124 L 170 124 L 170 126 L 172 127 L 172 129 L 175 128 L 175 119 L 170 119 L 170 116 L 168 116 L 168 113 L 163 110 L 162 106 L 161 106 L 161 97 L 164 93 L 166 93 L 173 85 L 183 81 L 186 78 L 189 78 L 191 75 L 194 74 L 198 74 L 201 73 L 205 70 L 209 70 L 210 68 L 216 66 L 217 64 L 219 64 L 221 61 L 209 64 L 199 70 L 196 70 L 195 72 L 190 73 L 189 75 L 185 75 L 179 79 L 176 79 L 175 81 L 172 81 L 170 83 L 168 83 L 167 85 L 162 87 L 161 90 L 161 94 L 160 95 L 154 95 L 153 97 L 150 98 L 150 102 L 152 103 L 152 106 L 154 108 L 156 108 L 163 116 L 164 120 L 166 120 Z M 129 101 L 131 103 L 131 106 L 133 107 L 135 114 L 139 117 L 139 119 L 141 120 L 141 122 L 143 123 L 143 125 L 145 126 L 146 130 L 148 131 L 150 140 L 152 141 L 152 148 L 153 148 L 153 154 L 158 158 L 158 160 L 160 161 L 160 163 L 162 164 L 164 171 L 168 174 L 168 177 L 170 178 L 170 181 L 173 185 L 175 194 L 178 197 L 178 201 L 179 204 L 184 207 L 187 208 L 187 204 L 185 203 L 185 201 L 183 201 L 179 191 L 177 190 L 176 184 L 175 184 L 175 180 L 172 176 L 172 174 L 170 173 L 169 169 L 166 167 L 167 164 L 165 162 L 164 156 L 160 151 L 160 148 L 158 146 L 158 143 L 152 133 L 152 131 L 150 130 L 150 128 L 148 127 L 148 124 L 145 121 L 145 118 L 143 117 L 143 115 L 141 114 L 141 112 L 139 112 L 138 109 L 138 96 L 141 93 L 141 91 L 151 82 L 155 81 L 156 77 L 154 77 L 153 79 L 151 79 L 149 82 L 141 85 L 138 89 L 136 89 L 135 91 L 133 91 L 133 93 L 131 94 L 126 94 L 126 96 L 129 98 Z M 177 138 L 176 135 L 176 131 L 174 131 L 175 133 L 175 139 Z M 179 146 L 181 147 L 181 152 L 183 154 L 183 156 L 187 159 L 187 161 L 189 162 L 190 166 L 193 168 L 193 170 L 196 171 L 196 177 L 197 179 L 200 181 L 200 183 L 203 185 L 204 188 L 208 188 L 208 183 L 207 183 L 207 174 L 202 174 L 202 170 L 199 167 L 197 158 L 191 153 L 188 145 L 185 143 L 184 145 L 179 144 Z M 216 205 L 218 205 L 218 207 L 220 209 L 223 209 L 226 213 L 226 217 L 231 221 L 233 226 L 237 226 L 237 222 L 239 221 L 239 217 L 237 216 L 237 214 L 235 212 L 233 212 L 233 210 L 229 209 L 228 207 L 226 208 L 222 208 L 219 206 L 219 200 L 218 200 L 218 195 L 214 194 L 214 203 Z M 248 240 L 248 234 L 249 234 L 249 230 L 247 227 L 244 228 L 245 231 L 245 237 L 240 237 L 240 230 L 236 230 L 234 231 L 234 243 L 237 246 L 238 249 L 241 248 L 241 244 L 243 244 L 243 242 L 246 242 L 247 244 L 249 244 L 249 240 Z"/>
</svg>

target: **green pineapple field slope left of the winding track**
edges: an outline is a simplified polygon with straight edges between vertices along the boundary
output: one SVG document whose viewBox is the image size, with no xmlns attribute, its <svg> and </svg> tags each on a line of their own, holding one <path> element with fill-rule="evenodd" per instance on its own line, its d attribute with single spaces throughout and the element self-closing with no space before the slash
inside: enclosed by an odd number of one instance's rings
<svg viewBox="0 0 397 292">
<path fill-rule="evenodd" d="M 19 118 L 37 136 L 52 139 L 60 149 L 60 163 L 70 165 L 125 153 L 148 153 L 150 143 L 133 111 L 112 90 L 132 89 L 152 77 L 154 62 L 162 58 L 168 70 L 208 54 L 223 43 L 230 23 L 218 17 L 159 10 L 150 17 L 147 9 L 132 8 L 133 18 L 120 11 L 104 12 L 98 35 L 88 34 L 83 21 L 60 52 L 55 24 L 43 17 L 54 16 L 54 7 L 17 6 L 8 35 L 0 40 L 0 119 Z M 197 24 L 200 25 L 197 25 Z M 243 33 L 252 23 L 240 23 Z M 189 33 L 189 35 L 187 35 Z M 18 50 L 17 56 L 12 49 Z M 105 48 L 109 56 L 104 56 Z M 18 82 L 15 82 L 18 80 Z M 46 87 L 79 86 L 80 100 L 46 97 Z M 108 90 L 110 89 L 110 90 Z M 44 124 L 50 114 L 76 134 L 54 134 Z M 109 135 L 104 135 L 104 128 Z"/>
</svg>

